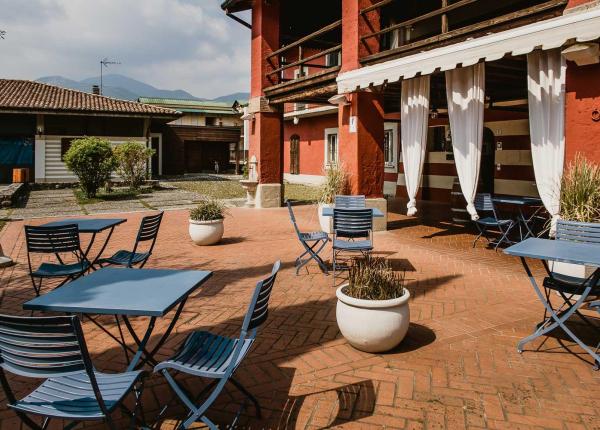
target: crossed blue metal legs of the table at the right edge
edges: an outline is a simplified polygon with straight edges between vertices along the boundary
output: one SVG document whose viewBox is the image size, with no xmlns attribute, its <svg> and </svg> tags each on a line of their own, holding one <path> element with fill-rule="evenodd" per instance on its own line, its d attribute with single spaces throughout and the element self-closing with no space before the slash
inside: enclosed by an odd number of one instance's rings
<svg viewBox="0 0 600 430">
<path fill-rule="evenodd" d="M 584 291 L 581 293 L 581 296 L 579 297 L 577 302 L 575 302 L 575 304 L 573 304 L 573 306 L 568 311 L 566 311 L 564 313 L 561 312 L 561 314 L 558 315 L 554 311 L 554 309 L 552 309 L 552 306 L 550 306 L 550 304 L 544 297 L 544 294 L 540 290 L 540 287 L 538 286 L 533 274 L 531 273 L 531 269 L 529 268 L 529 265 L 527 264 L 527 261 L 524 257 L 521 257 L 521 263 L 523 264 L 523 267 L 525 268 L 525 272 L 527 272 L 527 276 L 529 277 L 529 282 L 533 286 L 535 293 L 537 294 L 538 298 L 540 299 L 540 301 L 542 302 L 542 304 L 544 305 L 546 311 L 548 312 L 548 314 L 550 316 L 546 319 L 546 321 L 544 321 L 540 325 L 540 327 L 533 334 L 527 336 L 526 338 L 522 339 L 519 342 L 519 344 L 517 346 L 517 350 L 520 353 L 523 352 L 523 347 L 527 343 L 537 339 L 540 336 L 550 333 L 551 331 L 560 327 L 575 343 L 577 343 L 585 352 L 587 352 L 590 356 L 592 356 L 592 358 L 594 359 L 594 363 L 596 363 L 596 362 L 600 363 L 600 356 L 598 354 L 596 354 L 594 351 L 592 351 L 592 349 L 590 347 L 588 347 L 585 343 L 583 343 L 577 336 L 575 336 L 575 334 L 565 325 L 566 321 L 585 302 L 585 300 L 587 299 L 587 296 L 590 294 L 590 291 L 592 290 L 592 286 L 595 285 L 595 283 L 598 282 L 598 280 L 600 279 L 600 269 L 596 271 L 596 273 L 594 274 L 594 276 L 591 279 L 591 282 L 588 284 L 587 287 L 585 287 Z M 583 285 L 582 285 L 582 287 L 583 287 Z M 552 321 L 554 321 L 554 322 L 552 322 Z"/>
</svg>

